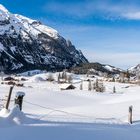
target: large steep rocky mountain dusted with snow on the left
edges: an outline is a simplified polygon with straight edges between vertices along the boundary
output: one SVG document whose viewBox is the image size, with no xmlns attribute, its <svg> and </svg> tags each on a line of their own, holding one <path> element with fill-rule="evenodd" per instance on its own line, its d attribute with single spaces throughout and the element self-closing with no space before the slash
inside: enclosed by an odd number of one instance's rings
<svg viewBox="0 0 140 140">
<path fill-rule="evenodd" d="M 82 52 L 56 30 L 0 5 L 0 66 L 5 72 L 60 70 L 85 62 Z"/>
</svg>

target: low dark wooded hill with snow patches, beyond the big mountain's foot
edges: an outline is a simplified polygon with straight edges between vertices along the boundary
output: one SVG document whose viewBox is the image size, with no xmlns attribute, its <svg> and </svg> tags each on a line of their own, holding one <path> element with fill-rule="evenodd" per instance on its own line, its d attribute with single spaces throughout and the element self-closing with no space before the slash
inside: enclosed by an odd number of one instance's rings
<svg viewBox="0 0 140 140">
<path fill-rule="evenodd" d="M 120 74 L 121 72 L 124 72 L 124 70 L 120 68 L 116 68 L 111 65 L 105 65 L 100 63 L 83 63 L 80 64 L 79 66 L 75 66 L 71 68 L 71 71 L 77 74 L 91 73 L 96 75 L 102 75 L 105 73 L 108 75 L 113 75 L 113 74 Z"/>
</svg>

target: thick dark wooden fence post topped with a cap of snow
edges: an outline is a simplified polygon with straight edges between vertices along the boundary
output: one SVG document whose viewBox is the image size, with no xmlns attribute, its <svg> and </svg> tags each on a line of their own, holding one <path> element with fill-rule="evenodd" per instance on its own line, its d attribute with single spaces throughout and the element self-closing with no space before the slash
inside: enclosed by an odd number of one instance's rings
<svg viewBox="0 0 140 140">
<path fill-rule="evenodd" d="M 20 111 L 22 110 L 22 103 L 23 103 L 23 97 L 25 96 L 25 93 L 22 91 L 18 91 L 16 93 L 15 97 L 15 105 L 19 105 Z"/>
</svg>

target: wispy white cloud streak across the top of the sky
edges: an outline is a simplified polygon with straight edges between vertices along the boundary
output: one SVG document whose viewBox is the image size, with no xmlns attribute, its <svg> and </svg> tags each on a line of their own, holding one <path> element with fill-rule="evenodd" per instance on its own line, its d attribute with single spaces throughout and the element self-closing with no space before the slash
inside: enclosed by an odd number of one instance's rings
<svg viewBox="0 0 140 140">
<path fill-rule="evenodd" d="M 126 1 L 111 3 L 109 0 L 73 3 L 49 2 L 43 9 L 79 18 L 98 15 L 110 20 L 120 18 L 140 20 L 140 6 L 135 1 L 128 1 L 127 3 Z"/>
</svg>

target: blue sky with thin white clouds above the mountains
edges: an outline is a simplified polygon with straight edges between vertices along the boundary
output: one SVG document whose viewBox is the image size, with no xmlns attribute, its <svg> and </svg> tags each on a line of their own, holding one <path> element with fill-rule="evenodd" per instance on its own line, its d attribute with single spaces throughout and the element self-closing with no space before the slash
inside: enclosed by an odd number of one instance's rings
<svg viewBox="0 0 140 140">
<path fill-rule="evenodd" d="M 1 0 L 72 40 L 89 61 L 127 69 L 140 63 L 139 0 Z"/>
</svg>

